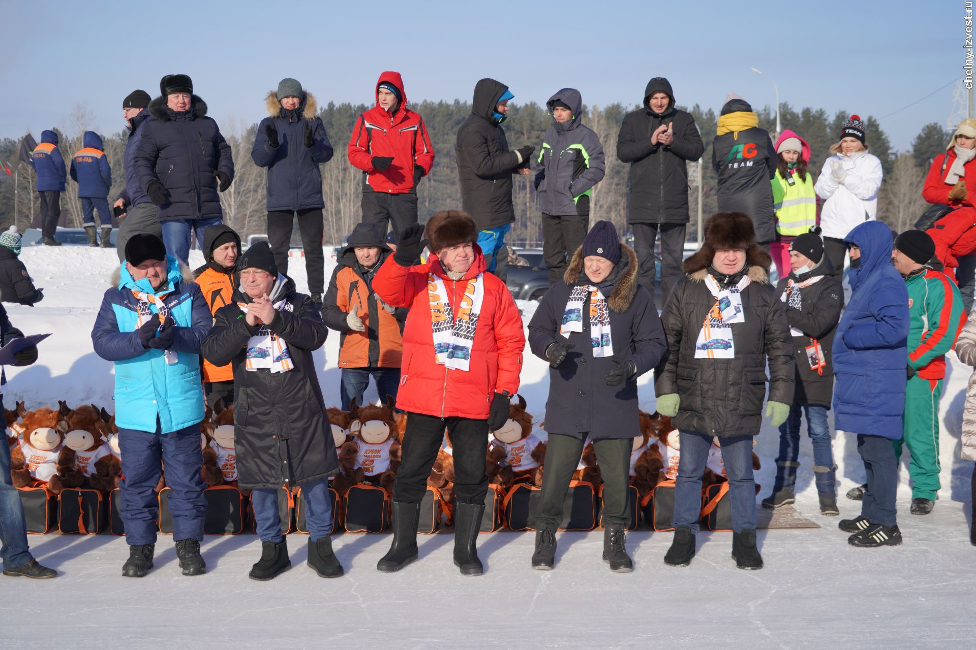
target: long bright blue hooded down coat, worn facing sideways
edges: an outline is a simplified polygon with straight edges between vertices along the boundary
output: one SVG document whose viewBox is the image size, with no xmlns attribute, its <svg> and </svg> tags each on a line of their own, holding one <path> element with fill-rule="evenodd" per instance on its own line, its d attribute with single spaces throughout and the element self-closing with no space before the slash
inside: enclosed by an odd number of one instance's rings
<svg viewBox="0 0 976 650">
<path fill-rule="evenodd" d="M 861 262 L 851 269 L 851 299 L 834 336 L 834 427 L 900 440 L 909 293 L 891 265 L 891 229 L 868 221 L 844 243 L 861 249 Z"/>
</svg>

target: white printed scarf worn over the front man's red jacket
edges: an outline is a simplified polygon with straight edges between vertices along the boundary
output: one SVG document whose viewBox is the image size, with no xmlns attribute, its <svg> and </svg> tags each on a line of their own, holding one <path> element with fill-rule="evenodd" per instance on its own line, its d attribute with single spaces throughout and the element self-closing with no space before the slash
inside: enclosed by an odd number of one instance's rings
<svg viewBox="0 0 976 650">
<path fill-rule="evenodd" d="M 451 308 L 447 286 L 440 276 L 427 274 L 427 295 L 430 300 L 435 361 L 440 365 L 468 372 L 471 348 L 474 347 L 474 332 L 485 298 L 484 274 L 479 273 L 468 280 L 457 315 Z"/>
</svg>

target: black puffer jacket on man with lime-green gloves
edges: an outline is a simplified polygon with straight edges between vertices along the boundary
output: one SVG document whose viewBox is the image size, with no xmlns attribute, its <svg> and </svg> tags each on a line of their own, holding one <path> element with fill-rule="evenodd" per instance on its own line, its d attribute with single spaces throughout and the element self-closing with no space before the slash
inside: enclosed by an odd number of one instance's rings
<svg viewBox="0 0 976 650">
<path fill-rule="evenodd" d="M 758 249 L 754 250 L 758 252 Z M 768 259 L 768 255 L 766 255 Z M 762 421 L 762 400 L 793 402 L 793 341 L 786 310 L 769 284 L 760 261 L 747 256 L 752 283 L 742 292 L 745 323 L 734 323 L 732 359 L 695 359 L 698 334 L 715 304 L 705 284 L 711 258 L 696 253 L 685 260 L 687 276 L 678 281 L 661 315 L 668 334 L 668 362 L 656 377 L 657 395 L 680 398 L 674 427 L 706 436 L 755 436 Z M 736 279 L 738 282 L 738 279 Z M 766 376 L 769 363 L 770 377 Z"/>
</svg>

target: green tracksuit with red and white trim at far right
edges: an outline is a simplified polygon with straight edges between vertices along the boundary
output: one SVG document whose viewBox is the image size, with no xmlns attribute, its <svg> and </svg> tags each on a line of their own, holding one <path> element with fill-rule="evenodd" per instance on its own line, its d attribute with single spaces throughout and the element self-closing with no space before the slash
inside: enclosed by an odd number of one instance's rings
<svg viewBox="0 0 976 650">
<path fill-rule="evenodd" d="M 895 440 L 895 455 L 902 441 L 912 459 L 912 498 L 935 501 L 941 487 L 939 472 L 939 398 L 946 376 L 945 354 L 956 345 L 965 324 L 962 298 L 944 273 L 923 266 L 905 279 L 909 291 L 909 363 L 915 374 L 905 390 L 904 437 Z"/>
</svg>

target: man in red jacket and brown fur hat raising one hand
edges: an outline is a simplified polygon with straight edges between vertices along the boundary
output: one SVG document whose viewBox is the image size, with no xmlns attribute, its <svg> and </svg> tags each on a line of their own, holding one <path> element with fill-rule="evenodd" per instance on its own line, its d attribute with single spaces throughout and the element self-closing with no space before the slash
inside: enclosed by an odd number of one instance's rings
<svg viewBox="0 0 976 650">
<path fill-rule="evenodd" d="M 393 307 L 410 307 L 403 330 L 397 408 L 407 412 L 402 463 L 393 485 L 393 544 L 377 564 L 398 571 L 417 559 L 417 523 L 427 477 L 447 430 L 454 447 L 454 563 L 481 575 L 474 548 L 484 513 L 488 431 L 508 419 L 518 391 L 525 335 L 505 283 L 485 273 L 478 229 L 464 212 L 438 212 L 427 221 L 430 255 L 421 254 L 424 227 L 400 233 L 399 246 L 373 280 Z"/>
</svg>

